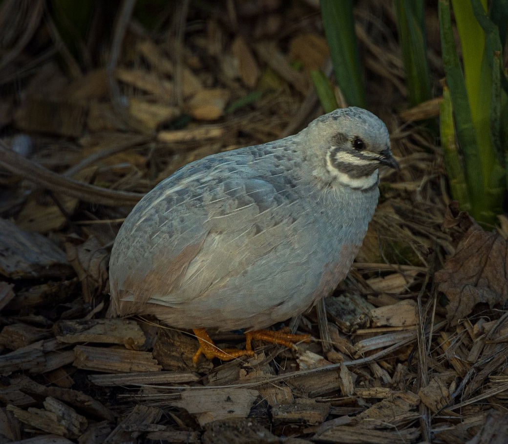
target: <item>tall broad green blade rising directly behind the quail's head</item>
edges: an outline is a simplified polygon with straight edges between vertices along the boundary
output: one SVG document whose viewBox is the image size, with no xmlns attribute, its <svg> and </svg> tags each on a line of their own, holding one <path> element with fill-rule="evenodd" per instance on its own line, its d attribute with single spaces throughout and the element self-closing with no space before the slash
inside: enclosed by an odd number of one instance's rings
<svg viewBox="0 0 508 444">
<path fill-rule="evenodd" d="M 352 0 L 321 0 L 321 18 L 337 83 L 347 104 L 366 108 Z"/>
</svg>

